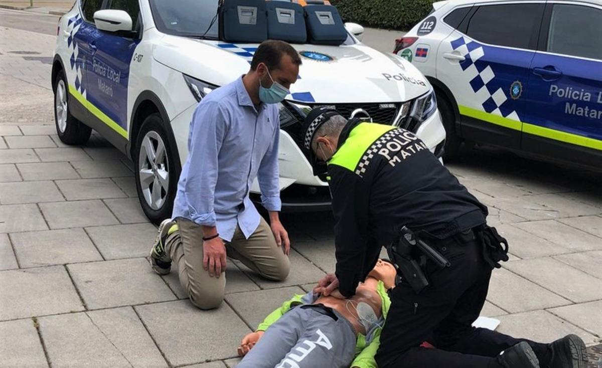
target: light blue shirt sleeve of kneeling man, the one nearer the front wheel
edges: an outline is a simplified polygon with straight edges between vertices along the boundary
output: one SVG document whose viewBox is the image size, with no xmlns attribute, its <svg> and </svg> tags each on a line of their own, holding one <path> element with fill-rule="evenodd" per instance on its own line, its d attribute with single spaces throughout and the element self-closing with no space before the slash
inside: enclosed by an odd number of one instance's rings
<svg viewBox="0 0 602 368">
<path fill-rule="evenodd" d="M 194 111 L 188 144 L 188 176 L 185 193 L 191 220 L 198 225 L 215 226 L 216 192 L 220 149 L 228 130 L 228 117 L 218 102 L 200 103 Z"/>
</svg>

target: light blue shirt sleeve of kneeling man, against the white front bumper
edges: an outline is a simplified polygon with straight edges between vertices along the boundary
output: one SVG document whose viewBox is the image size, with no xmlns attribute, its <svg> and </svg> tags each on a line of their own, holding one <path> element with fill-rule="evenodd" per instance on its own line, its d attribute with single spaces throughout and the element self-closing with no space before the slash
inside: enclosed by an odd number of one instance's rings
<svg viewBox="0 0 602 368">
<path fill-rule="evenodd" d="M 278 119 L 278 114 L 276 114 L 276 119 Z M 261 189 L 261 204 L 268 211 L 279 211 L 282 208 L 279 186 L 280 171 L 278 167 L 279 143 L 280 129 L 277 126 L 272 138 L 272 144 L 270 144 L 270 147 L 261 159 L 257 172 L 259 189 Z"/>
</svg>

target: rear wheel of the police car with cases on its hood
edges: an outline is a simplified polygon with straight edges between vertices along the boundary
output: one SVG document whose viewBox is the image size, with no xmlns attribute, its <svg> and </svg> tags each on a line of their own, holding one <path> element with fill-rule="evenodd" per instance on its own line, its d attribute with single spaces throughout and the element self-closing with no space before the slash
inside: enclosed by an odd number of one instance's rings
<svg viewBox="0 0 602 368">
<path fill-rule="evenodd" d="M 92 129 L 71 115 L 69 87 L 63 70 L 59 70 L 54 83 L 54 123 L 58 138 L 64 144 L 82 145 L 90 139 Z"/>
</svg>

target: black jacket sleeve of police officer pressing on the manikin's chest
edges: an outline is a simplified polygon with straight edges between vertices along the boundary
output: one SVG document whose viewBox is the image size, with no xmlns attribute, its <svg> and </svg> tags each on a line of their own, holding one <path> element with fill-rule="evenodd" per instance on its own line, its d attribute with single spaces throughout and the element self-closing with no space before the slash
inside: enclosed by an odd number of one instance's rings
<svg viewBox="0 0 602 368">
<path fill-rule="evenodd" d="M 346 168 L 329 165 L 329 174 L 335 217 L 335 274 L 339 291 L 349 298 L 364 278 L 370 192 L 364 179 Z"/>
</svg>

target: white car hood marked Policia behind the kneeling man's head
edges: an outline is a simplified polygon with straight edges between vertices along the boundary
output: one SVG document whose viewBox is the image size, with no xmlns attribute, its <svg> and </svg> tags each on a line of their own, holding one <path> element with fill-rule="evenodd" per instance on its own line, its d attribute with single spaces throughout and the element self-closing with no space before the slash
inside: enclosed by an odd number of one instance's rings
<svg viewBox="0 0 602 368">
<path fill-rule="evenodd" d="M 249 70 L 258 44 L 232 44 L 165 35 L 155 60 L 202 81 L 224 85 Z M 430 84 L 412 64 L 364 44 L 293 44 L 302 55 L 299 79 L 287 100 L 312 103 L 403 102 L 427 93 Z"/>
</svg>

